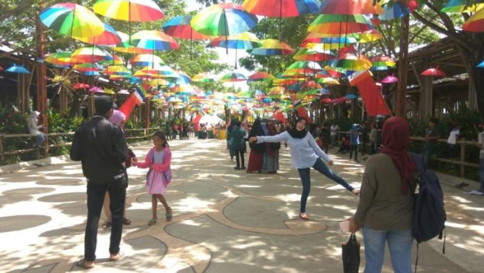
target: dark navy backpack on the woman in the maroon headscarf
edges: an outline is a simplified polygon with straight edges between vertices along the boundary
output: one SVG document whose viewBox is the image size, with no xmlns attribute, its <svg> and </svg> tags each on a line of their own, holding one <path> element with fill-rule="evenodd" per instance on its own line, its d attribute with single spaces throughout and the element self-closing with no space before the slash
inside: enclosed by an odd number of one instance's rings
<svg viewBox="0 0 484 273">
<path fill-rule="evenodd" d="M 417 182 L 419 193 L 414 194 L 414 214 L 412 219 L 412 236 L 417 240 L 417 260 L 415 260 L 415 272 L 419 260 L 419 244 L 433 237 L 439 236 L 445 231 L 446 213 L 444 209 L 444 192 L 440 187 L 439 178 L 431 170 L 426 170 L 424 161 L 420 155 L 412 153 L 415 165 L 417 165 Z M 442 253 L 445 254 L 445 235 Z"/>
</svg>

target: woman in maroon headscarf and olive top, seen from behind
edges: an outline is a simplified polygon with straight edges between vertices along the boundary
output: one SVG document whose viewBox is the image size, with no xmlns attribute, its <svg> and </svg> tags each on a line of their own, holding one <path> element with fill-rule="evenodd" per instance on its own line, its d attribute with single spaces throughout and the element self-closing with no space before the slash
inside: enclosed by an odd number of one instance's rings
<svg viewBox="0 0 484 273">
<path fill-rule="evenodd" d="M 412 272 L 412 192 L 417 173 L 407 151 L 410 127 L 400 117 L 389 118 L 382 128 L 383 148 L 366 162 L 360 202 L 350 231 L 363 228 L 364 272 L 381 272 L 388 243 L 394 272 Z"/>
</svg>

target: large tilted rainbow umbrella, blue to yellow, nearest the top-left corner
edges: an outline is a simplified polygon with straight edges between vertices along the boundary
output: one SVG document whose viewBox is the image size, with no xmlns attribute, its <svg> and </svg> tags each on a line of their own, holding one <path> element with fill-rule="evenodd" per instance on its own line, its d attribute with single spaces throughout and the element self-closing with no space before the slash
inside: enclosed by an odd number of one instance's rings
<svg viewBox="0 0 484 273">
<path fill-rule="evenodd" d="M 97 36 L 104 31 L 104 23 L 88 8 L 76 3 L 56 3 L 39 15 L 48 29 L 71 37 Z"/>
</svg>

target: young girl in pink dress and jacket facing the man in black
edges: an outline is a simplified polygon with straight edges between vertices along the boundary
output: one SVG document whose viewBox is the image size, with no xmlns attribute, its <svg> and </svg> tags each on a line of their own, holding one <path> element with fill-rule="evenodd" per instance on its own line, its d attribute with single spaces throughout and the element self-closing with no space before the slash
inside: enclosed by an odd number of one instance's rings
<svg viewBox="0 0 484 273">
<path fill-rule="evenodd" d="M 165 207 L 166 221 L 171 221 L 172 219 L 172 209 L 163 196 L 166 192 L 166 187 L 170 185 L 172 179 L 170 146 L 166 141 L 165 134 L 161 131 L 153 134 L 153 143 L 154 147 L 146 155 L 145 162 L 134 162 L 134 165 L 138 166 L 138 168 L 150 169 L 146 175 L 146 187 L 148 194 L 152 196 L 153 217 L 148 222 L 148 226 L 154 225 L 158 219 L 156 214 L 158 201 Z"/>
</svg>

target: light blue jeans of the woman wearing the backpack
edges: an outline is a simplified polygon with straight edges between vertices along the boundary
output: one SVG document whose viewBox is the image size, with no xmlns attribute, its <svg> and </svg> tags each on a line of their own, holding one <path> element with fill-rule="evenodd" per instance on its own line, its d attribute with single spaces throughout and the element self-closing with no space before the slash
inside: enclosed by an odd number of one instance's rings
<svg viewBox="0 0 484 273">
<path fill-rule="evenodd" d="M 412 273 L 412 231 L 376 231 L 363 226 L 364 273 L 382 272 L 388 242 L 395 273 Z"/>
</svg>

